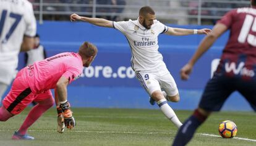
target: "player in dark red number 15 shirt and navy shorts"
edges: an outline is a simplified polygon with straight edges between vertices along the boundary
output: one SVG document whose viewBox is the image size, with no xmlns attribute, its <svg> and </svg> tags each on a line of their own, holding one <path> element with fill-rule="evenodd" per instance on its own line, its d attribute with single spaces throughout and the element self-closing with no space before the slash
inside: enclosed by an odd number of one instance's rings
<svg viewBox="0 0 256 146">
<path fill-rule="evenodd" d="M 173 145 L 186 145 L 210 113 L 219 111 L 234 91 L 240 92 L 256 111 L 256 0 L 251 0 L 251 4 L 252 7 L 234 9 L 224 15 L 181 69 L 181 78 L 188 79 L 195 62 L 221 34 L 230 30 L 220 64 L 208 81 L 198 108 L 181 126 Z"/>
</svg>

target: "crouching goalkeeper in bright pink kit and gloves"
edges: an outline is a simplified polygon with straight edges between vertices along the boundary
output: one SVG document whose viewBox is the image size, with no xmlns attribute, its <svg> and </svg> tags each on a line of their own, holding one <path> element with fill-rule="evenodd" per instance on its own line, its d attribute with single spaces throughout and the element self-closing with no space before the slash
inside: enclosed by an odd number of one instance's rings
<svg viewBox="0 0 256 146">
<path fill-rule="evenodd" d="M 64 52 L 40 62 L 35 62 L 19 71 L 12 84 L 11 91 L 2 100 L 0 121 L 6 121 L 19 114 L 32 101 L 38 103 L 30 110 L 27 118 L 14 132 L 12 139 L 28 139 L 34 137 L 26 134 L 27 129 L 54 104 L 50 89 L 56 90 L 58 109 L 58 132 L 64 127 L 72 129 L 75 119 L 67 102 L 67 85 L 79 78 L 83 67 L 89 67 L 98 50 L 90 43 L 83 43 L 79 52 Z"/>
</svg>

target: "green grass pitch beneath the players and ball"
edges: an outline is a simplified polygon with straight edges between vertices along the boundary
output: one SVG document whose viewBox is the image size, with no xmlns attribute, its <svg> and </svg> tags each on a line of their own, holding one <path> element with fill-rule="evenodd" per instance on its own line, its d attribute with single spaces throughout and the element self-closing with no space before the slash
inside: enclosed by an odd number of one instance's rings
<svg viewBox="0 0 256 146">
<path fill-rule="evenodd" d="M 56 132 L 56 110 L 51 108 L 28 131 L 36 140 L 11 140 L 28 110 L 0 123 L 0 145 L 171 145 L 177 132 L 177 128 L 160 110 L 72 108 L 77 126 L 59 134 Z M 191 113 L 176 111 L 181 121 L 186 120 Z M 224 120 L 234 121 L 238 129 L 236 137 L 244 139 L 223 139 L 218 136 L 218 124 Z M 189 145 L 256 145 L 255 131 L 254 112 L 213 113 L 198 129 Z"/>
</svg>

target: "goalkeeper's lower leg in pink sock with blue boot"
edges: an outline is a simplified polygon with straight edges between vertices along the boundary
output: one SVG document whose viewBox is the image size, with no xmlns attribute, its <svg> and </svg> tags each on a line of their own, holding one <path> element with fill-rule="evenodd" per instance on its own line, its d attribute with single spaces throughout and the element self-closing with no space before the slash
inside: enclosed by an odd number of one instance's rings
<svg viewBox="0 0 256 146">
<path fill-rule="evenodd" d="M 35 107 L 33 107 L 32 110 L 30 110 L 27 118 L 23 122 L 22 126 L 20 126 L 19 131 L 14 133 L 14 136 L 12 137 L 12 139 L 27 139 L 27 138 L 32 139 L 32 136 L 28 136 L 26 134 L 27 129 L 33 123 L 35 123 L 35 121 L 38 120 L 38 118 L 40 118 L 40 116 L 43 113 L 45 113 L 46 110 L 51 108 L 53 105 L 54 105 L 53 97 L 49 97 L 48 99 L 38 102 L 38 104 L 35 105 Z"/>
</svg>

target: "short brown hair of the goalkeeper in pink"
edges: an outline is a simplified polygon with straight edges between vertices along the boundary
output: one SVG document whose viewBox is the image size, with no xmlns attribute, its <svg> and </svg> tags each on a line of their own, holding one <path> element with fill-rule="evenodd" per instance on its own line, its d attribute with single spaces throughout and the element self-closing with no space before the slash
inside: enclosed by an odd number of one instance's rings
<svg viewBox="0 0 256 146">
<path fill-rule="evenodd" d="M 79 55 L 83 58 L 94 57 L 98 53 L 98 49 L 92 43 L 84 42 L 79 48 Z"/>
</svg>

